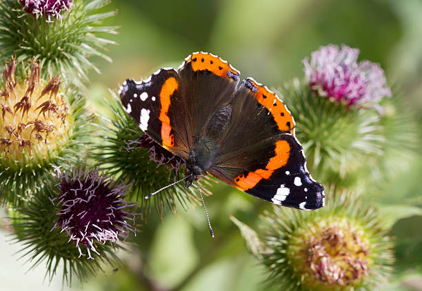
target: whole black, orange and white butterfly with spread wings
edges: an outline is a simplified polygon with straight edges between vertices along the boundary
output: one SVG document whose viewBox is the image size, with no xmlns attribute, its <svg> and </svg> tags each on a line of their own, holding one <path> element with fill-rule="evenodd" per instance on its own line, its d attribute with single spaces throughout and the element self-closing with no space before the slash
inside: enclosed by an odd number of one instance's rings
<svg viewBox="0 0 422 291">
<path fill-rule="evenodd" d="M 306 169 L 294 120 L 276 94 L 227 61 L 194 52 L 176 71 L 128 79 L 121 103 L 141 130 L 185 159 L 185 185 L 201 175 L 274 204 L 314 210 L 323 186 Z"/>
</svg>

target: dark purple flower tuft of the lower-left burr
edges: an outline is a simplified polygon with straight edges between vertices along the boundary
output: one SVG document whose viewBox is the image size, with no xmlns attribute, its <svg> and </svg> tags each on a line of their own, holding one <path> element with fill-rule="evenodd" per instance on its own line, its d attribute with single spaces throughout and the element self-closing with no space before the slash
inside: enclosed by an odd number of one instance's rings
<svg viewBox="0 0 422 291">
<path fill-rule="evenodd" d="M 59 168 L 56 171 L 61 195 L 51 201 L 61 210 L 53 229 L 60 227 L 68 234 L 69 241 L 76 243 L 79 257 L 85 256 L 81 247 L 86 248 L 88 259 L 93 259 L 91 251 L 99 254 L 95 241 L 116 243 L 119 237 L 125 239 L 129 232 L 135 233 L 135 214 L 128 208 L 136 204 L 121 198 L 128 192 L 127 185 L 114 186 L 114 181 L 100 175 L 99 170 L 74 170 L 72 174 L 63 174 Z"/>
</svg>

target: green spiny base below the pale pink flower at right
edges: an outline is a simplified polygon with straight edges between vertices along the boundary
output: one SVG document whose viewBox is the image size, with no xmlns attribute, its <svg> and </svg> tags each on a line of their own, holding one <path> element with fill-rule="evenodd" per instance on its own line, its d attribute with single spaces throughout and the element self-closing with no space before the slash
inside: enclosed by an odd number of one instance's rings
<svg viewBox="0 0 422 291">
<path fill-rule="evenodd" d="M 305 81 L 294 79 L 280 90 L 297 125 L 308 168 L 323 183 L 354 183 L 383 154 L 383 126 L 376 110 L 350 108 L 319 97 Z"/>
</svg>

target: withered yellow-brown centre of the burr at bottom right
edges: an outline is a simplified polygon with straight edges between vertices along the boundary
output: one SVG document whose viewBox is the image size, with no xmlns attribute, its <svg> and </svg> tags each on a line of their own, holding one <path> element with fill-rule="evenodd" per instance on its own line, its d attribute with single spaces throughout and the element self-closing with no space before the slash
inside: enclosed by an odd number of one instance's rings
<svg viewBox="0 0 422 291">
<path fill-rule="evenodd" d="M 365 280 L 374 262 L 369 256 L 370 241 L 362 234 L 359 227 L 340 219 L 299 235 L 288 248 L 294 250 L 292 261 L 305 262 L 297 268 L 307 275 L 303 285 L 309 288 L 332 285 L 334 288 L 357 285 Z"/>
</svg>

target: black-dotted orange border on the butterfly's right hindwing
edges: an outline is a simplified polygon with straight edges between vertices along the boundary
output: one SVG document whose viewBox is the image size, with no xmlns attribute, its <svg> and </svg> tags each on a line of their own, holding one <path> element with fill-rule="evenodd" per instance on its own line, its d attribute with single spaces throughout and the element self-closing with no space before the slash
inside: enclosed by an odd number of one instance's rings
<svg viewBox="0 0 422 291">
<path fill-rule="evenodd" d="M 274 92 L 271 92 L 252 78 L 248 78 L 245 81 L 250 83 L 247 83 L 246 86 L 250 88 L 255 99 L 271 112 L 274 121 L 277 123 L 277 126 L 279 126 L 279 130 L 294 134 L 294 120 L 283 101 L 280 101 Z"/>
</svg>

